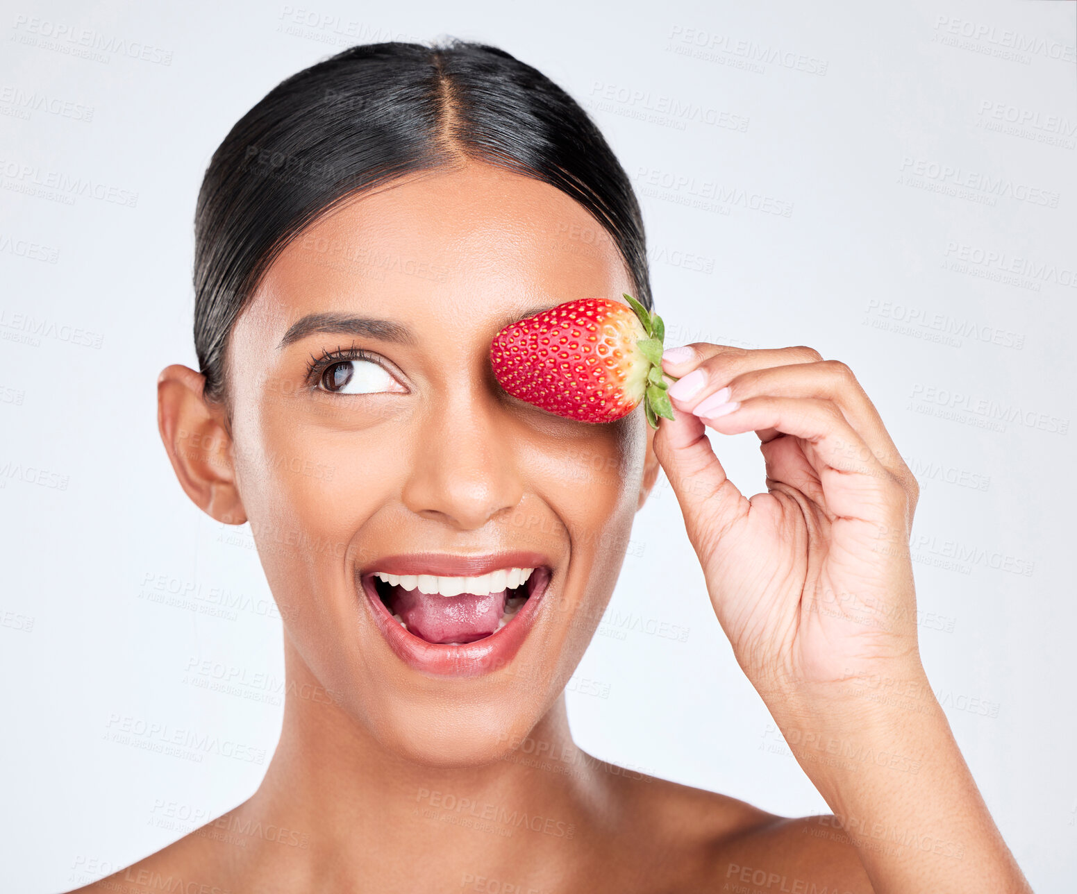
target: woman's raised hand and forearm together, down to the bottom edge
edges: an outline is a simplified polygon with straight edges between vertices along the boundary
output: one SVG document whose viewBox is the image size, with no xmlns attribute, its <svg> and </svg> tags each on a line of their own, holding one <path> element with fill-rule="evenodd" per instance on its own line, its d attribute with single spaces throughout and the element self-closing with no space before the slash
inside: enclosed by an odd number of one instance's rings
<svg viewBox="0 0 1077 894">
<path fill-rule="evenodd" d="M 918 762 L 906 774 L 795 752 L 848 822 L 872 890 L 1031 892 L 926 686 L 908 545 L 919 488 L 849 367 L 811 348 L 705 344 L 662 366 L 681 378 L 655 452 L 718 620 L 780 728 Z M 704 423 L 759 436 L 766 493 L 745 500 L 726 478 Z M 923 712 L 870 707 L 853 679 L 864 673 L 917 683 Z M 857 832 L 876 828 L 915 829 L 962 858 Z"/>
</svg>

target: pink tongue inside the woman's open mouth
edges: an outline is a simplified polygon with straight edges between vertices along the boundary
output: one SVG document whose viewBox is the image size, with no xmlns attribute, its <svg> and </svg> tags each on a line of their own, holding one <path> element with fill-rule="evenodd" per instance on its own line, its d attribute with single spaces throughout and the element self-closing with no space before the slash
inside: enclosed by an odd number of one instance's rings
<svg viewBox="0 0 1077 894">
<path fill-rule="evenodd" d="M 404 619 L 409 633 L 428 643 L 470 643 L 498 629 L 505 595 L 502 590 L 489 596 L 438 596 L 393 587 L 389 611 Z"/>
</svg>

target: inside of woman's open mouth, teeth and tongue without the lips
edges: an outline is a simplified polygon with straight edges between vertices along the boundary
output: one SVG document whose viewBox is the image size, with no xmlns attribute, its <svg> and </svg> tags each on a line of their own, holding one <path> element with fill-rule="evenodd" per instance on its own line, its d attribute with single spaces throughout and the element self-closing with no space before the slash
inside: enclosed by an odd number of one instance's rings
<svg viewBox="0 0 1077 894">
<path fill-rule="evenodd" d="M 502 568 L 474 576 L 369 574 L 382 605 L 396 623 L 411 635 L 440 645 L 463 645 L 492 637 L 545 589 L 549 577 L 546 567 Z"/>
</svg>

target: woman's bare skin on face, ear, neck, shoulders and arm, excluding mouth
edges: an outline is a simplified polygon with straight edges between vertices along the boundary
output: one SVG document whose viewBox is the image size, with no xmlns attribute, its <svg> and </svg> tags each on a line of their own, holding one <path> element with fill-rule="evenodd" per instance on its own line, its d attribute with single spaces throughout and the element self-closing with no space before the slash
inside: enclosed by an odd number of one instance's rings
<svg viewBox="0 0 1077 894">
<path fill-rule="evenodd" d="M 192 369 L 162 373 L 180 484 L 214 519 L 251 522 L 280 605 L 283 729 L 249 800 L 82 890 L 1029 890 L 926 683 L 915 483 L 848 367 L 808 348 L 688 346 L 665 364 L 677 418 L 657 434 L 640 409 L 590 425 L 498 388 L 487 352 L 505 323 L 631 291 L 574 200 L 462 159 L 353 200 L 284 250 L 232 334 L 226 402 Z M 282 345 L 314 313 L 394 335 L 352 324 Z M 364 368 L 380 390 L 308 377 L 349 348 L 377 358 Z M 698 388 L 677 399 L 686 381 Z M 758 433 L 766 493 L 745 500 L 726 479 L 704 425 Z M 659 464 L 718 620 L 789 741 L 900 755 L 917 772 L 794 748 L 837 814 L 794 820 L 572 743 L 563 689 Z M 378 557 L 499 549 L 544 553 L 554 577 L 520 652 L 490 673 L 421 673 L 356 610 L 356 573 Z"/>
</svg>

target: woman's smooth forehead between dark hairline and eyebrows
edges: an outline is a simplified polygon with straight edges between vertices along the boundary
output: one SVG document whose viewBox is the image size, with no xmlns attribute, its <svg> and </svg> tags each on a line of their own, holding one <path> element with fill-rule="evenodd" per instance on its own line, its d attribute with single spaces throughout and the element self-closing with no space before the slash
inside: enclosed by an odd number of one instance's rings
<svg viewBox="0 0 1077 894">
<path fill-rule="evenodd" d="M 421 327 L 630 290 L 612 237 L 583 206 L 470 164 L 397 181 L 318 220 L 274 262 L 243 316 L 279 337 L 307 313 L 362 311 Z"/>
</svg>

